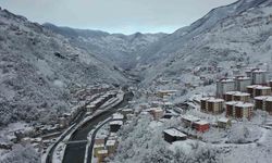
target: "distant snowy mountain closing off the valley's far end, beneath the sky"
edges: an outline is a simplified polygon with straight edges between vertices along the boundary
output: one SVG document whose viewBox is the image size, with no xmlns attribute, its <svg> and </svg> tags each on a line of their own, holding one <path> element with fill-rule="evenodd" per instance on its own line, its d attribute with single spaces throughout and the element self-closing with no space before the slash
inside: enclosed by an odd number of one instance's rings
<svg viewBox="0 0 272 163">
<path fill-rule="evenodd" d="M 100 30 L 58 27 L 50 23 L 46 23 L 44 26 L 66 37 L 72 45 L 96 53 L 98 58 L 112 60 L 123 68 L 134 67 L 143 54 L 138 51 L 144 51 L 151 43 L 166 36 L 163 33 L 109 34 Z"/>
</svg>

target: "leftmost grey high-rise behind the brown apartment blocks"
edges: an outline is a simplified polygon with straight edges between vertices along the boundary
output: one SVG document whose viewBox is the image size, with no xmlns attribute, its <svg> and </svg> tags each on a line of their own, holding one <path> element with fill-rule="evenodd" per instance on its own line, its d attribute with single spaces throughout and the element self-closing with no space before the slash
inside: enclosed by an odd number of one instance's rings
<svg viewBox="0 0 272 163">
<path fill-rule="evenodd" d="M 223 98 L 223 95 L 227 91 L 235 90 L 235 80 L 232 78 L 222 78 L 217 83 L 217 97 Z"/>
</svg>

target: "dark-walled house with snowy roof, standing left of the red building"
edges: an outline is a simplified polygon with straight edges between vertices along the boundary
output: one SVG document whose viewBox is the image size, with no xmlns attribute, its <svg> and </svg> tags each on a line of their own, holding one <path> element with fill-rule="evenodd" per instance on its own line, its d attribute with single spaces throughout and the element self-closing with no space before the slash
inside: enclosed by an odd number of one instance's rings
<svg viewBox="0 0 272 163">
<path fill-rule="evenodd" d="M 169 129 L 163 130 L 163 138 L 169 143 L 172 143 L 174 141 L 186 140 L 187 135 L 183 134 L 176 128 L 169 128 Z"/>
</svg>

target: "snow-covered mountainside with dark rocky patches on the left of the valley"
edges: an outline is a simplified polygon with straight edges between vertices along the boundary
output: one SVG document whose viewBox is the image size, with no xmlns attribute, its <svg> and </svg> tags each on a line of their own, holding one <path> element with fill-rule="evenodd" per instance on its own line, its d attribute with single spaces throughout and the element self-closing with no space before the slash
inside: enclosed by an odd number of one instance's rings
<svg viewBox="0 0 272 163">
<path fill-rule="evenodd" d="M 69 110 L 73 85 L 126 82 L 113 63 L 72 46 L 39 24 L 0 10 L 0 125 Z"/>
</svg>

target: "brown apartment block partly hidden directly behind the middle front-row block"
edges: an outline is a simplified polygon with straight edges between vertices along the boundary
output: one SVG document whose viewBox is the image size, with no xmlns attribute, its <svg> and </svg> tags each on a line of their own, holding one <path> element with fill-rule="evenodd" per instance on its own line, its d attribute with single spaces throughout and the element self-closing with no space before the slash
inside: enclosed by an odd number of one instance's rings
<svg viewBox="0 0 272 163">
<path fill-rule="evenodd" d="M 225 101 L 249 102 L 249 100 L 250 100 L 250 93 L 240 92 L 240 91 L 228 91 L 228 92 L 224 93 L 223 97 L 224 97 Z"/>
</svg>

